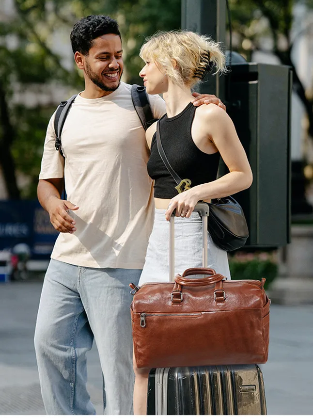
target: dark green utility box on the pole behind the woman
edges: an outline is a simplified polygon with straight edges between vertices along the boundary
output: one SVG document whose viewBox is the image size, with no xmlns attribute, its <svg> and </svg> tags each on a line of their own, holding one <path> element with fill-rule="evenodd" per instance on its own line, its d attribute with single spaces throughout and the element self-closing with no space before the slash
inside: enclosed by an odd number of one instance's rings
<svg viewBox="0 0 313 418">
<path fill-rule="evenodd" d="M 291 89 L 284 65 L 233 64 L 226 78 L 227 112 L 253 172 L 250 189 L 234 195 L 248 221 L 250 247 L 290 242 Z"/>
</svg>

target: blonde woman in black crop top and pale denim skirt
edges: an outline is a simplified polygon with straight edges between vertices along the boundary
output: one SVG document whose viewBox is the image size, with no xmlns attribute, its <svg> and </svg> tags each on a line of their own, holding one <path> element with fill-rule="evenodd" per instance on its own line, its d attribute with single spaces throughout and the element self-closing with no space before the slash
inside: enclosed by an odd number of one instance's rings
<svg viewBox="0 0 313 418">
<path fill-rule="evenodd" d="M 146 131 L 151 149 L 148 173 L 155 180 L 155 223 L 149 239 L 139 284 L 169 280 L 168 222 L 175 216 L 175 273 L 202 266 L 202 221 L 192 213 L 199 200 L 228 196 L 250 187 L 252 173 L 232 120 L 218 106 L 195 108 L 191 88 L 215 67 L 225 72 L 225 56 L 219 44 L 194 32 L 160 32 L 141 48 L 145 65 L 140 72 L 148 94 L 163 94 L 167 113 L 160 119 L 165 154 L 181 178 L 191 180 L 190 190 L 176 191 L 176 183 L 157 151 L 156 129 Z M 229 173 L 216 179 L 219 157 Z M 208 237 L 208 267 L 230 278 L 227 253 Z M 137 369 L 134 414 L 146 414 L 149 370 Z"/>
</svg>

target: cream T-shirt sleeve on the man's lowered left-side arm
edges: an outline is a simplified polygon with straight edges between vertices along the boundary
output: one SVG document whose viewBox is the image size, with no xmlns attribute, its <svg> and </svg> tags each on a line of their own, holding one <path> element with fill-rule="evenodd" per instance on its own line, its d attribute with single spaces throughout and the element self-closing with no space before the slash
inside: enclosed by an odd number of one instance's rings
<svg viewBox="0 0 313 418">
<path fill-rule="evenodd" d="M 62 178 L 64 176 L 64 158 L 60 151 L 55 148 L 55 131 L 54 131 L 54 118 L 55 113 L 51 116 L 47 127 L 44 153 L 41 160 L 41 170 L 39 179 L 44 180 L 47 178 Z"/>
</svg>

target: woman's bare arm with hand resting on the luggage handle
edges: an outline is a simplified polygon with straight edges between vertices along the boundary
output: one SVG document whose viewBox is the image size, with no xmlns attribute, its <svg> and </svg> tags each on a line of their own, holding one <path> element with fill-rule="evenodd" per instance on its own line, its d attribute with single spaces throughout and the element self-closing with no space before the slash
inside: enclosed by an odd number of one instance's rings
<svg viewBox="0 0 313 418">
<path fill-rule="evenodd" d="M 228 196 L 248 189 L 252 183 L 252 171 L 247 155 L 228 114 L 218 106 L 203 106 L 200 129 L 219 150 L 230 173 L 209 183 L 192 187 L 173 197 L 166 212 L 167 220 L 170 219 L 174 209 L 176 209 L 176 216 L 183 213 L 189 217 L 199 200 Z"/>
</svg>

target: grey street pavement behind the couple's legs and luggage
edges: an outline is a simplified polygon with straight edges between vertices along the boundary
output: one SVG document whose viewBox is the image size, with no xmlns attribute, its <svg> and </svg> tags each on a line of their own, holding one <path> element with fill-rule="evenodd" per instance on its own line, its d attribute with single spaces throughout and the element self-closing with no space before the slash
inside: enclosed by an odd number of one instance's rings
<svg viewBox="0 0 313 418">
<path fill-rule="evenodd" d="M 41 281 L 0 283 L 0 415 L 42 415 L 33 348 Z M 269 358 L 261 368 L 269 415 L 313 414 L 313 305 L 271 306 Z M 88 389 L 102 415 L 96 348 L 88 353 Z"/>
</svg>

